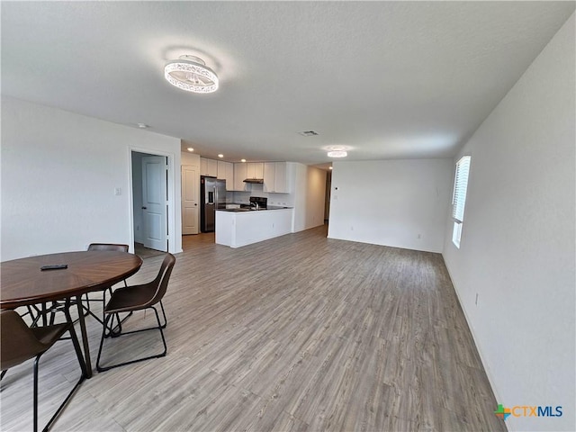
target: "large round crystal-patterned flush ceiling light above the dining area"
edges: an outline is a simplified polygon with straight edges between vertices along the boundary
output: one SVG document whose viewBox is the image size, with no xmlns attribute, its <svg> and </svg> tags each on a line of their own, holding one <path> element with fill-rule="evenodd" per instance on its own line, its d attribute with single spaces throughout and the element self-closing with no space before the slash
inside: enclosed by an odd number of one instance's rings
<svg viewBox="0 0 576 432">
<path fill-rule="evenodd" d="M 193 93 L 212 93 L 218 90 L 218 76 L 206 66 L 202 58 L 180 56 L 164 67 L 164 77 L 171 85 Z"/>
</svg>

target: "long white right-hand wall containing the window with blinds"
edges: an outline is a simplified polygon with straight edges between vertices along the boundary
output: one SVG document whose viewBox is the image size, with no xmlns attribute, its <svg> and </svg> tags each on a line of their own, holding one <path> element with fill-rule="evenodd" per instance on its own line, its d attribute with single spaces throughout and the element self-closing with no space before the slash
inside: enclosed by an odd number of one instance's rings
<svg viewBox="0 0 576 432">
<path fill-rule="evenodd" d="M 563 407 L 510 417 L 510 430 L 576 430 L 574 45 L 572 15 L 464 146 L 460 249 L 446 229 L 446 266 L 499 403 Z"/>
</svg>

